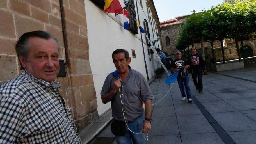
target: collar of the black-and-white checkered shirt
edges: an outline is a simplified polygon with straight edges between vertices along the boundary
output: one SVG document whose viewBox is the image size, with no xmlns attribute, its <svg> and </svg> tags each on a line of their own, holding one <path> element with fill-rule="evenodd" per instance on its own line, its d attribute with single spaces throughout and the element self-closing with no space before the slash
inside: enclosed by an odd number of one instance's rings
<svg viewBox="0 0 256 144">
<path fill-rule="evenodd" d="M 42 86 L 43 88 L 49 88 L 50 86 L 56 88 L 57 90 L 61 87 L 61 83 L 59 83 L 58 81 L 54 80 L 51 83 L 44 81 L 42 79 L 38 79 L 35 76 L 31 75 L 29 72 L 27 72 L 26 70 L 22 70 L 21 73 L 22 76 L 34 81 L 35 83 L 39 84 L 40 86 Z"/>
</svg>

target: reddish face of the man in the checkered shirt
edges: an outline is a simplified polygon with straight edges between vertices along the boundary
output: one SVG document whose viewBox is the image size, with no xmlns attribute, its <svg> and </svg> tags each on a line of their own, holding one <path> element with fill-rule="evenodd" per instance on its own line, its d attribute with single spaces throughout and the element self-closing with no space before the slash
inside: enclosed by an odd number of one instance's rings
<svg viewBox="0 0 256 144">
<path fill-rule="evenodd" d="M 24 69 L 38 79 L 52 82 L 59 73 L 58 45 L 53 38 L 45 40 L 31 37 L 28 40 L 30 52 L 26 62 L 22 56 L 19 59 Z"/>
</svg>

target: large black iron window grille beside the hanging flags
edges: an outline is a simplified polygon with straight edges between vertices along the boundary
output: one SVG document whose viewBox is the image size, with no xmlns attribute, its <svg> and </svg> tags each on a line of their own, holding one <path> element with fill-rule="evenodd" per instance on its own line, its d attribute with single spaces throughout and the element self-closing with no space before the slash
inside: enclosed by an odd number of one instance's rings
<svg viewBox="0 0 256 144">
<path fill-rule="evenodd" d="M 133 34 L 138 34 L 138 26 L 136 24 L 136 11 L 135 11 L 135 5 L 134 0 L 130 0 L 130 3 L 126 5 L 126 10 L 129 13 L 129 25 L 130 25 L 130 31 Z"/>
</svg>

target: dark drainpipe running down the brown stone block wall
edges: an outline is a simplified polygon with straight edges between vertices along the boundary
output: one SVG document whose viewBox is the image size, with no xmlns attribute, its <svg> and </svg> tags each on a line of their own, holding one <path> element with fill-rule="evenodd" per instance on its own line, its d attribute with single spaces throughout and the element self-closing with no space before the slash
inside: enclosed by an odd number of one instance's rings
<svg viewBox="0 0 256 144">
<path fill-rule="evenodd" d="M 65 22 L 64 8 L 63 8 L 63 0 L 60 0 L 60 9 L 61 9 L 61 24 L 62 24 L 62 33 L 63 33 L 65 57 L 66 57 L 65 67 L 68 67 L 69 59 L 68 59 L 68 54 L 67 54 L 67 33 L 66 33 L 66 22 Z"/>
</svg>

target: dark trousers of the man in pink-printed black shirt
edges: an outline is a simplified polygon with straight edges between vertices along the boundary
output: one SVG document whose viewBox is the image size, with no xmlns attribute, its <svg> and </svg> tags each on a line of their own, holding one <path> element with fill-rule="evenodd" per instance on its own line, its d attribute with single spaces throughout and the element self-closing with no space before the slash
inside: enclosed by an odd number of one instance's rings
<svg viewBox="0 0 256 144">
<path fill-rule="evenodd" d="M 203 70 L 202 68 L 197 68 L 197 69 L 191 69 L 191 74 L 192 74 L 192 79 L 193 82 L 196 86 L 196 88 L 199 89 L 199 91 L 203 90 Z M 198 82 L 197 79 L 198 78 Z"/>
</svg>

